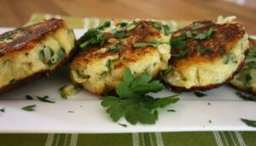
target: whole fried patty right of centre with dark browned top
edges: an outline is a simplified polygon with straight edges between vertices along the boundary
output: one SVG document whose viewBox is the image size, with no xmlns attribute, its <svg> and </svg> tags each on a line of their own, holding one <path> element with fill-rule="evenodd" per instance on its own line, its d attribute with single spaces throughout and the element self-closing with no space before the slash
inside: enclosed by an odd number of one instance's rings
<svg viewBox="0 0 256 146">
<path fill-rule="evenodd" d="M 171 42 L 172 71 L 163 79 L 176 91 L 220 86 L 241 66 L 249 47 L 244 26 L 230 18 L 196 21 L 175 31 Z"/>
</svg>

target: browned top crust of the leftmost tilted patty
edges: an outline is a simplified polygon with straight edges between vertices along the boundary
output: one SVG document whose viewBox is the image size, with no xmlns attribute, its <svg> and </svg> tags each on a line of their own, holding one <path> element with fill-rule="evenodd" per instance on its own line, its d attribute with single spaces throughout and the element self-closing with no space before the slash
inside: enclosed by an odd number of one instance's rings
<svg viewBox="0 0 256 146">
<path fill-rule="evenodd" d="M 6 53 L 32 49 L 44 36 L 62 27 L 67 27 L 64 20 L 52 19 L 3 33 L 0 35 L 0 57 Z M 12 37 L 11 41 L 6 42 L 7 36 Z"/>
</svg>

